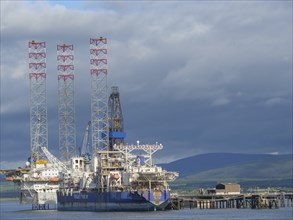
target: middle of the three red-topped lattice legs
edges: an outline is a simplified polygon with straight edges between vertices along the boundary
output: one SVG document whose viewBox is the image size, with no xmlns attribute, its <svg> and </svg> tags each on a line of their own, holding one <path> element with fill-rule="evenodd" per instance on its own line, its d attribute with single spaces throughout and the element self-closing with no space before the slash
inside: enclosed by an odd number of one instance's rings
<svg viewBox="0 0 293 220">
<path fill-rule="evenodd" d="M 61 161 L 76 155 L 73 45 L 57 45 L 58 124 Z"/>
</svg>

